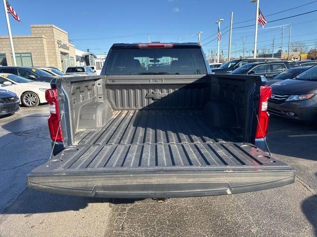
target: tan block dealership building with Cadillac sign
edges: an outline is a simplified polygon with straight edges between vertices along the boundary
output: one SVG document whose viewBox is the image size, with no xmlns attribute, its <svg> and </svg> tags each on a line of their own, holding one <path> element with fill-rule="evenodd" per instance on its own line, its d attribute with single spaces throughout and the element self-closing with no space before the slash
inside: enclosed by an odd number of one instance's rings
<svg viewBox="0 0 317 237">
<path fill-rule="evenodd" d="M 31 35 L 13 36 L 17 66 L 56 67 L 65 71 L 69 66 L 94 65 L 90 52 L 76 55 L 75 46 L 69 43 L 68 33 L 54 25 L 31 25 Z M 78 53 L 77 53 L 78 54 Z M 8 36 L 0 36 L 0 66 L 12 66 Z"/>
</svg>

